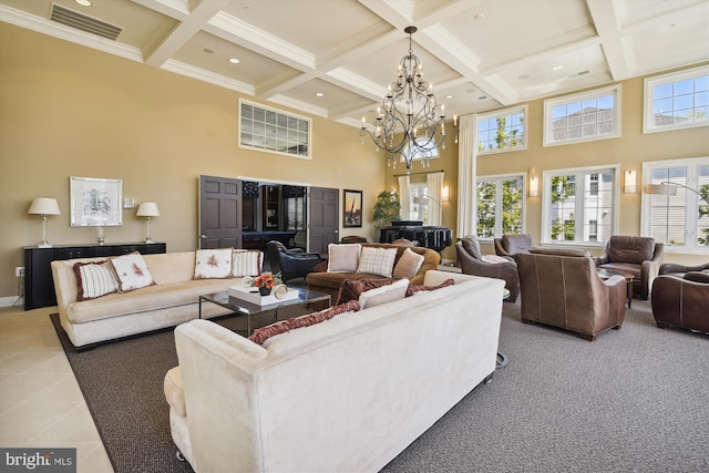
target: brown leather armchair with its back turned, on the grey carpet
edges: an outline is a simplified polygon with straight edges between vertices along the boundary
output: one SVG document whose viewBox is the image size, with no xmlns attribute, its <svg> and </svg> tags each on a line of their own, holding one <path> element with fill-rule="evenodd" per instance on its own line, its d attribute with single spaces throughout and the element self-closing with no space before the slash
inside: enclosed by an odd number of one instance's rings
<svg viewBox="0 0 709 473">
<path fill-rule="evenodd" d="M 523 323 L 559 327 L 589 341 L 623 325 L 626 280 L 602 280 L 588 251 L 532 248 L 517 258 Z"/>
</svg>

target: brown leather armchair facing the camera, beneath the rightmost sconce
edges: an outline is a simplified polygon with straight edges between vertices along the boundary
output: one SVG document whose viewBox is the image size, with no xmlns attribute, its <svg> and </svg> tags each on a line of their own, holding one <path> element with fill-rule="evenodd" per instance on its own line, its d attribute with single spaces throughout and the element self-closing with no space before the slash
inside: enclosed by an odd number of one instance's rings
<svg viewBox="0 0 709 473">
<path fill-rule="evenodd" d="M 614 235 L 604 254 L 596 258 L 596 267 L 631 274 L 633 292 L 647 300 L 664 253 L 665 245 L 655 243 L 655 238 Z"/>
</svg>

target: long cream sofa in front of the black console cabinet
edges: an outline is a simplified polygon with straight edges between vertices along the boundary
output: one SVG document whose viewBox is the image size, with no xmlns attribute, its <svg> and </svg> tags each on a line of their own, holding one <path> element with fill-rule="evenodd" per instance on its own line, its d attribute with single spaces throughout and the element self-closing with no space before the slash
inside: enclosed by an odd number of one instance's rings
<svg viewBox="0 0 709 473">
<path fill-rule="evenodd" d="M 155 285 L 78 300 L 75 263 L 106 258 L 80 258 L 52 261 L 59 318 L 74 347 L 84 347 L 135 333 L 174 327 L 199 317 L 199 296 L 227 290 L 242 278 L 193 279 L 195 251 L 143 255 Z M 203 317 L 229 311 L 203 305 Z"/>
</svg>

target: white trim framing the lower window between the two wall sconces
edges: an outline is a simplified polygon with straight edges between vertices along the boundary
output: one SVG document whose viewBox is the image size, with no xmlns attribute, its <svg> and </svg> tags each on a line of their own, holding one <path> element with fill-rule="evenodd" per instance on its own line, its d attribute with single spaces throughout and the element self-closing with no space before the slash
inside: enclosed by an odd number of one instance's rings
<svg viewBox="0 0 709 473">
<path fill-rule="evenodd" d="M 552 212 L 552 177 L 558 175 L 578 174 L 578 173 L 603 173 L 604 171 L 613 171 L 614 173 L 614 192 L 613 192 L 613 219 L 610 220 L 610 235 L 617 235 L 618 222 L 620 214 L 620 165 L 612 164 L 608 166 L 590 166 L 590 167 L 571 167 L 567 169 L 549 169 L 542 173 L 542 244 L 553 246 L 573 246 L 585 248 L 605 248 L 605 240 L 597 241 L 558 241 L 552 239 L 552 228 L 548 225 L 549 214 Z"/>
</svg>

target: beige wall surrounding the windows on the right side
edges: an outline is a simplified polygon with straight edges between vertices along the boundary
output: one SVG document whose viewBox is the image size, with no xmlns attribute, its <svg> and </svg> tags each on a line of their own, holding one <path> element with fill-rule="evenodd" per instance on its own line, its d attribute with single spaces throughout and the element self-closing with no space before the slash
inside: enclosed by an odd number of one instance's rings
<svg viewBox="0 0 709 473">
<path fill-rule="evenodd" d="M 536 100 L 528 103 L 528 130 L 527 150 L 508 153 L 497 153 L 477 157 L 477 175 L 495 175 L 507 173 L 525 173 L 534 168 L 534 175 L 540 176 L 549 169 L 563 169 L 569 167 L 586 167 L 598 165 L 620 165 L 620 174 L 627 169 L 638 172 L 638 186 L 643 182 L 643 162 L 675 160 L 685 157 L 699 157 L 709 155 L 709 132 L 706 127 L 682 130 L 665 133 L 643 134 L 643 80 L 631 79 L 621 82 L 621 137 L 602 140 L 589 143 L 542 146 L 544 101 Z M 451 186 L 451 203 L 444 208 L 449 220 L 454 225 L 458 206 L 458 145 L 454 144 L 454 131 L 448 128 L 446 150 L 441 157 L 431 161 L 430 169 L 445 171 L 445 185 Z M 423 172 L 420 164 L 415 164 L 412 172 Z M 387 188 L 398 188 L 394 174 L 404 173 L 403 166 L 398 169 L 387 168 Z M 422 178 L 423 176 L 412 177 Z M 623 184 L 623 176 L 618 183 Z M 640 196 L 637 194 L 620 193 L 620 215 L 618 233 L 621 235 L 640 235 Z M 526 200 L 526 232 L 532 235 L 534 241 L 540 241 L 542 236 L 542 198 L 527 198 Z M 492 244 L 483 244 L 485 253 L 493 253 Z M 599 250 L 592 250 L 598 255 Z M 452 248 L 443 253 L 444 258 L 455 258 Z M 706 255 L 682 254 L 666 251 L 665 261 L 696 263 L 706 260 Z"/>
</svg>

